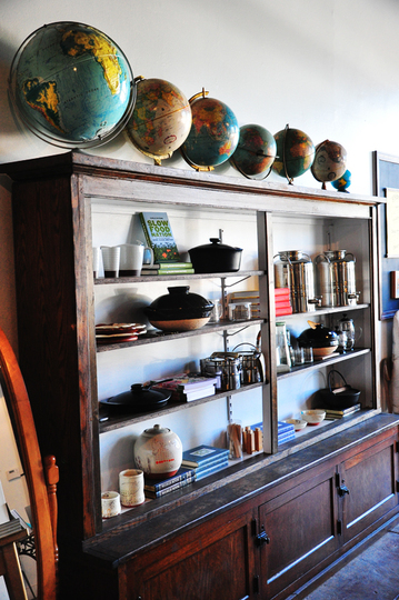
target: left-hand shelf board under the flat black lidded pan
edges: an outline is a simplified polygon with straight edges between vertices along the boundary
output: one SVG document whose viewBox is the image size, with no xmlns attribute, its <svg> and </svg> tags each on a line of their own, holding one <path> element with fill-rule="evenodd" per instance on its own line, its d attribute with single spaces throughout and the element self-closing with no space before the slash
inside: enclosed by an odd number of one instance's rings
<svg viewBox="0 0 399 600">
<path fill-rule="evenodd" d="M 140 412 L 134 414 L 110 414 L 107 421 L 100 421 L 100 433 L 104 433 L 106 431 L 112 431 L 114 429 L 120 429 L 121 427 L 126 427 L 129 424 L 139 423 L 144 419 L 153 419 L 154 417 L 161 417 L 171 412 L 187 410 L 191 407 L 205 404 L 206 402 L 212 402 L 213 400 L 219 400 L 220 398 L 226 398 L 228 396 L 235 396 L 237 393 L 255 390 L 256 388 L 260 388 L 261 386 L 263 386 L 263 382 L 251 383 L 248 386 L 242 386 L 238 390 L 222 391 L 213 396 L 208 396 L 207 398 L 199 398 L 198 400 L 192 400 L 191 402 L 168 402 L 166 407 L 162 407 L 161 409 L 151 412 Z"/>
</svg>

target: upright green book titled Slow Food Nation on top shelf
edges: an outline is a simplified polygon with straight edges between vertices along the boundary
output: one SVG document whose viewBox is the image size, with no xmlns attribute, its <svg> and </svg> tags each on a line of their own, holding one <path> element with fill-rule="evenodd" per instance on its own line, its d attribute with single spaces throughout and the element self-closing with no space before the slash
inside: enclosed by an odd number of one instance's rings
<svg viewBox="0 0 399 600">
<path fill-rule="evenodd" d="M 180 256 L 166 212 L 140 212 L 140 221 L 154 262 L 179 261 Z"/>
</svg>

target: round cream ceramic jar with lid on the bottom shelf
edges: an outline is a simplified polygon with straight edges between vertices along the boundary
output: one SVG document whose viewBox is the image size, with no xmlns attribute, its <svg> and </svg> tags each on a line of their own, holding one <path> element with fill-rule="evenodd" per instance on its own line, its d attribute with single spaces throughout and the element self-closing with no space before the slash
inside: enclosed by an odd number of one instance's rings
<svg viewBox="0 0 399 600">
<path fill-rule="evenodd" d="M 180 469 L 181 460 L 182 444 L 171 429 L 154 424 L 136 440 L 136 467 L 148 478 L 172 477 Z"/>
</svg>

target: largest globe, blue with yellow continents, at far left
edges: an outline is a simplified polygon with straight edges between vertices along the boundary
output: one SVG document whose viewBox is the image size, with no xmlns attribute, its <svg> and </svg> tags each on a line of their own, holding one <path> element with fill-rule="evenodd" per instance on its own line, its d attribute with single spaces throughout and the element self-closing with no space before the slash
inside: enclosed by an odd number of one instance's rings
<svg viewBox="0 0 399 600">
<path fill-rule="evenodd" d="M 16 53 L 10 92 L 24 124 L 62 148 L 112 139 L 133 110 L 128 59 L 90 26 L 57 22 L 31 33 Z"/>
</svg>

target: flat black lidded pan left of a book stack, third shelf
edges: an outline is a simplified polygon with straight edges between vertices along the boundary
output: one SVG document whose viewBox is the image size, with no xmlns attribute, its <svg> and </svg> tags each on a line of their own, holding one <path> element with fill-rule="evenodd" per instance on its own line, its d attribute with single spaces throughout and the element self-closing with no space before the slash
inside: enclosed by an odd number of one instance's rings
<svg viewBox="0 0 399 600">
<path fill-rule="evenodd" d="M 170 397 L 169 390 L 159 391 L 141 383 L 133 383 L 129 391 L 101 400 L 101 404 L 114 411 L 146 412 L 163 407 Z"/>
</svg>

